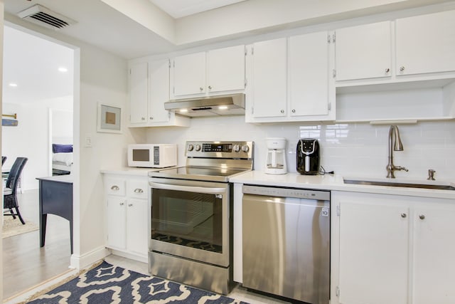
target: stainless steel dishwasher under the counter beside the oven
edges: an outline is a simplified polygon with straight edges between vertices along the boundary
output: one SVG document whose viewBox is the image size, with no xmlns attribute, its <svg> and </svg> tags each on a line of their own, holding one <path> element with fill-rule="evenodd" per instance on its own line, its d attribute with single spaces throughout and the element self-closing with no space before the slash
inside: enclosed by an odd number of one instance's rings
<svg viewBox="0 0 455 304">
<path fill-rule="evenodd" d="M 330 298 L 330 192 L 243 185 L 243 286 L 306 303 Z"/>
</svg>

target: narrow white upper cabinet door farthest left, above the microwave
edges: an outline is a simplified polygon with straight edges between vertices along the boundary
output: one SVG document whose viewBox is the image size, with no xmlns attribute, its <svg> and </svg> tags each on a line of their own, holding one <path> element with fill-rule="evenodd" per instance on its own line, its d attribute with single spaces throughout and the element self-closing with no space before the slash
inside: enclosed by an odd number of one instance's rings
<svg viewBox="0 0 455 304">
<path fill-rule="evenodd" d="M 147 63 L 137 63 L 129 69 L 130 122 L 146 123 L 149 98 Z"/>
</svg>

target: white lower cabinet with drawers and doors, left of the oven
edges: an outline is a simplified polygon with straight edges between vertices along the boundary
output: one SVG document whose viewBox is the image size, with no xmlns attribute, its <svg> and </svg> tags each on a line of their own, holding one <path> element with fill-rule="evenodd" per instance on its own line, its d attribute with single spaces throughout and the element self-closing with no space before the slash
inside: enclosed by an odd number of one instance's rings
<svg viewBox="0 0 455 304">
<path fill-rule="evenodd" d="M 105 174 L 107 247 L 129 258 L 146 261 L 148 216 L 146 177 Z"/>
</svg>

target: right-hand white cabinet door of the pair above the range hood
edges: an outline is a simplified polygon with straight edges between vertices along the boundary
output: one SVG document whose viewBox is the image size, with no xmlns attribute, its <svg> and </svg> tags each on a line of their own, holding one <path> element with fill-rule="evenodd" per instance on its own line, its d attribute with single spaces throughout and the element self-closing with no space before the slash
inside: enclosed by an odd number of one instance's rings
<svg viewBox="0 0 455 304">
<path fill-rule="evenodd" d="M 219 48 L 207 56 L 209 93 L 245 88 L 245 46 Z"/>
</svg>

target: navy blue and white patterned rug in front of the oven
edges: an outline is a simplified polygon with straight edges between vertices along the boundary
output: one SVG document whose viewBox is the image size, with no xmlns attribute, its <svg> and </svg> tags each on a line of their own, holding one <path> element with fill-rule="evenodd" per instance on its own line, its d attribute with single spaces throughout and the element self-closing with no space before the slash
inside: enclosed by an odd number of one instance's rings
<svg viewBox="0 0 455 304">
<path fill-rule="evenodd" d="M 146 276 L 103 261 L 27 303 L 243 303 L 224 295 Z"/>
</svg>

